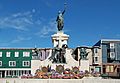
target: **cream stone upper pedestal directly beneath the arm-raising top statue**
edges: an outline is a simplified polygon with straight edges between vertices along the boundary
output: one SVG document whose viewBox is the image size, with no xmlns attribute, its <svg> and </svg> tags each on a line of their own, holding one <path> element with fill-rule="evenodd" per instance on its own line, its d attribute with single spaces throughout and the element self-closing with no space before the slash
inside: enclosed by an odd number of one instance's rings
<svg viewBox="0 0 120 83">
<path fill-rule="evenodd" d="M 52 36 L 52 43 L 53 47 L 56 47 L 58 45 L 59 48 L 62 48 L 62 45 L 66 44 L 69 39 L 69 35 L 64 34 L 63 31 L 58 31 L 56 34 L 53 34 Z"/>
</svg>

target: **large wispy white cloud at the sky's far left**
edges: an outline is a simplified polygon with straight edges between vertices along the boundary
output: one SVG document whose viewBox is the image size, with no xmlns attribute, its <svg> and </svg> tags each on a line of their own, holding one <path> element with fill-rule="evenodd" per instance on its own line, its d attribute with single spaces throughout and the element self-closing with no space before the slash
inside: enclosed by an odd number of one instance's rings
<svg viewBox="0 0 120 83">
<path fill-rule="evenodd" d="M 35 9 L 27 12 L 15 13 L 10 16 L 0 17 L 0 28 L 13 28 L 17 30 L 27 31 L 34 24 L 32 13 Z"/>
</svg>

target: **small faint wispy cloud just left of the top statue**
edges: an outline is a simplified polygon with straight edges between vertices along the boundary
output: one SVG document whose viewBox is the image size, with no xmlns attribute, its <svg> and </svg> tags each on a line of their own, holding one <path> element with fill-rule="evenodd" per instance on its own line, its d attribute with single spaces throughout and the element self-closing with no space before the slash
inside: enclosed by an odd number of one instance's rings
<svg viewBox="0 0 120 83">
<path fill-rule="evenodd" d="M 50 20 L 46 25 L 43 25 L 43 28 L 37 32 L 36 35 L 40 37 L 48 37 L 50 33 L 56 32 L 57 27 L 55 23 L 55 19 Z"/>
</svg>

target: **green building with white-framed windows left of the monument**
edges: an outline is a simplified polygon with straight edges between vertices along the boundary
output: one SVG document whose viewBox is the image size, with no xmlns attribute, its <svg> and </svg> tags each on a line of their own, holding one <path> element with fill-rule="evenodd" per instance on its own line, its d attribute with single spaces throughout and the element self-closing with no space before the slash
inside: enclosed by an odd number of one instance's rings
<svg viewBox="0 0 120 83">
<path fill-rule="evenodd" d="M 18 77 L 31 74 L 32 49 L 1 48 L 0 77 Z"/>
</svg>

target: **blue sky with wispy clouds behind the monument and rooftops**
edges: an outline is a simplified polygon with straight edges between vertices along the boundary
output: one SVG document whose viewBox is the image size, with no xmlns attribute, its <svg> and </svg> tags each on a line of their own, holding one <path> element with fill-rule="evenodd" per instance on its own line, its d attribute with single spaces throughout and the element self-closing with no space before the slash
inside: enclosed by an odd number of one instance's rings
<svg viewBox="0 0 120 83">
<path fill-rule="evenodd" d="M 68 46 L 120 39 L 120 0 L 0 0 L 0 48 L 52 47 L 56 17 L 63 10 Z"/>
</svg>

